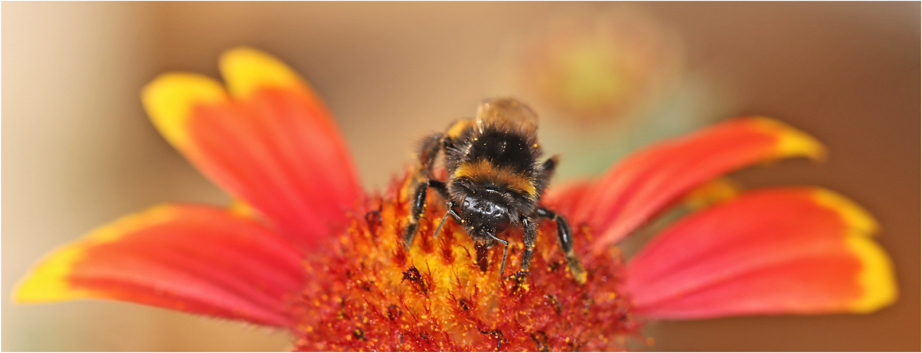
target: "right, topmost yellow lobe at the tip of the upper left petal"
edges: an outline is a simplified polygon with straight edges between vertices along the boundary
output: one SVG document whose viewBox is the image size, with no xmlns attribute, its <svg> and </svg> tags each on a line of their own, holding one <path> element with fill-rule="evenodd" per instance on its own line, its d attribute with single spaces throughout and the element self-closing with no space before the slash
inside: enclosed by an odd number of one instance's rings
<svg viewBox="0 0 922 353">
<path fill-rule="evenodd" d="M 288 65 L 268 53 L 250 47 L 228 50 L 220 57 L 221 75 L 234 97 L 246 98 L 257 88 L 303 89 L 304 83 Z"/>
</svg>

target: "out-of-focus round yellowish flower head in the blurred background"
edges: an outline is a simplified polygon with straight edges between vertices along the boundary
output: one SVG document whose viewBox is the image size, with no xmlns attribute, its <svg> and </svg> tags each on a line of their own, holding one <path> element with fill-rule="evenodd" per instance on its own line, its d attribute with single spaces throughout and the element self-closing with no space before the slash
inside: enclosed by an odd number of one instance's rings
<svg viewBox="0 0 922 353">
<path fill-rule="evenodd" d="M 576 126 L 662 105 L 685 76 L 679 36 L 632 6 L 557 14 L 517 56 L 521 88 Z"/>
</svg>

